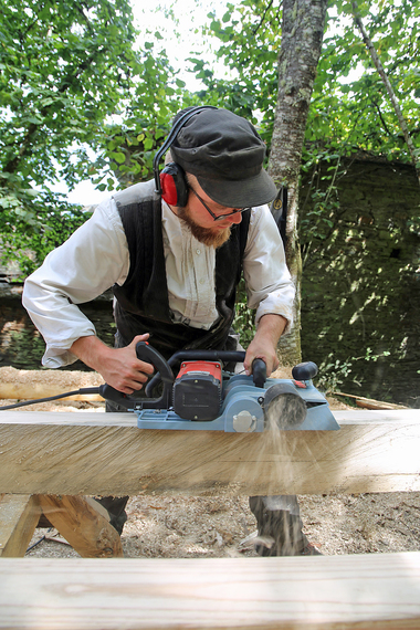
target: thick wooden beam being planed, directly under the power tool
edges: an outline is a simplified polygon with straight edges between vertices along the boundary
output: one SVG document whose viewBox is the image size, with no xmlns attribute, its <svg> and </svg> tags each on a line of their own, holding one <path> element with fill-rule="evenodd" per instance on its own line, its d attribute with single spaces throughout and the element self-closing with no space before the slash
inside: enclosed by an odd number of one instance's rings
<svg viewBox="0 0 420 630">
<path fill-rule="evenodd" d="M 339 431 L 139 430 L 129 413 L 2 412 L 0 492 L 420 491 L 420 411 L 335 412 Z"/>
</svg>

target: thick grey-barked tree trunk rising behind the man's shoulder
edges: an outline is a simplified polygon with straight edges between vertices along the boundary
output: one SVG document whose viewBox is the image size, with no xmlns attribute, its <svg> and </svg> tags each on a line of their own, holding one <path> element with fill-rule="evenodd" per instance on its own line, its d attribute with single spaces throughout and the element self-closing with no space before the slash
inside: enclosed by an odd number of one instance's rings
<svg viewBox="0 0 420 630">
<path fill-rule="evenodd" d="M 286 260 L 296 286 L 296 300 L 294 304 L 294 327 L 292 333 L 282 338 L 279 344 L 282 365 L 294 365 L 302 360 L 302 261 L 297 239 L 298 178 L 326 12 L 327 0 L 283 0 L 279 94 L 269 172 L 277 187 L 284 185 L 288 189 Z"/>
</svg>

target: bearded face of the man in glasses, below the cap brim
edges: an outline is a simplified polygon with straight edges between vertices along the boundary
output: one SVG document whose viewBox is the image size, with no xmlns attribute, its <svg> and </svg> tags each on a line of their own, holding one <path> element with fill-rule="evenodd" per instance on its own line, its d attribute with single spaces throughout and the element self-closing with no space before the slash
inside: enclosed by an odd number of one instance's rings
<svg viewBox="0 0 420 630">
<path fill-rule="evenodd" d="M 220 248 L 229 240 L 232 225 L 241 222 L 241 213 L 230 214 L 235 208 L 228 208 L 212 201 L 193 176 L 189 176 L 189 183 L 213 214 L 217 217 L 227 214 L 227 217 L 214 221 L 206 206 L 192 191 L 190 191 L 186 208 L 177 208 L 177 216 L 189 225 L 192 235 L 200 243 L 214 249 Z"/>
</svg>

